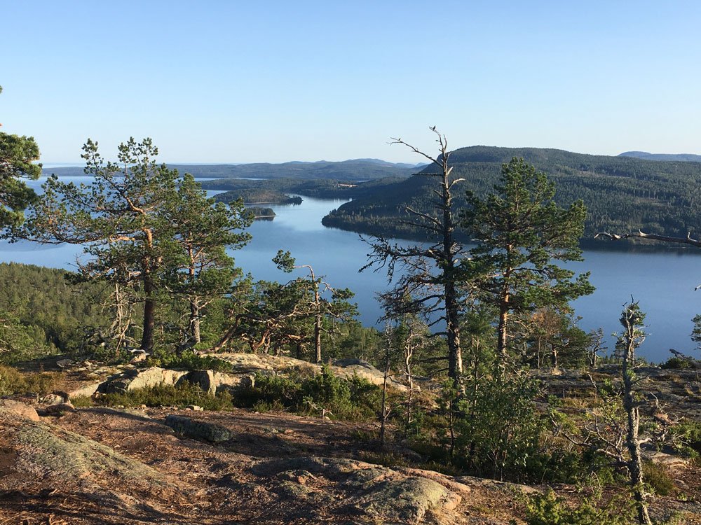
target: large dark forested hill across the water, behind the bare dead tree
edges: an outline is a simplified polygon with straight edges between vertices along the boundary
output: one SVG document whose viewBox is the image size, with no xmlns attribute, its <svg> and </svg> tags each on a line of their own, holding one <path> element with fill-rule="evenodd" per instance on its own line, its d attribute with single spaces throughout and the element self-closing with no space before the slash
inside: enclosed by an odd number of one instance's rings
<svg viewBox="0 0 701 525">
<path fill-rule="evenodd" d="M 587 206 L 585 236 L 597 232 L 648 232 L 683 235 L 701 232 L 701 163 L 657 162 L 627 156 L 583 155 L 541 148 L 472 146 L 451 154 L 453 175 L 465 178 L 465 189 L 484 194 L 498 181 L 501 166 L 511 158 L 526 162 L 557 184 L 556 200 Z M 429 166 L 423 173 L 430 173 Z M 404 207 L 433 213 L 429 177 L 417 174 L 354 197 L 324 218 L 334 228 L 374 235 L 421 238 L 421 230 L 402 223 Z M 456 186 L 456 206 L 465 205 Z M 466 234 L 465 234 L 466 235 Z M 603 243 L 601 243 L 603 244 Z"/>
</svg>

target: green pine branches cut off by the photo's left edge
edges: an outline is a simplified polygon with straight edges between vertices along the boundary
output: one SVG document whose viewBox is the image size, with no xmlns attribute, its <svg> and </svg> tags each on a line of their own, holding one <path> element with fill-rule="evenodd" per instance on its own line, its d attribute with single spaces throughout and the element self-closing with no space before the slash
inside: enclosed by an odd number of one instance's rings
<svg viewBox="0 0 701 525">
<path fill-rule="evenodd" d="M 21 179 L 39 178 L 41 164 L 32 164 L 38 159 L 34 137 L 0 133 L 0 231 L 22 223 L 22 210 L 36 197 Z"/>
</svg>

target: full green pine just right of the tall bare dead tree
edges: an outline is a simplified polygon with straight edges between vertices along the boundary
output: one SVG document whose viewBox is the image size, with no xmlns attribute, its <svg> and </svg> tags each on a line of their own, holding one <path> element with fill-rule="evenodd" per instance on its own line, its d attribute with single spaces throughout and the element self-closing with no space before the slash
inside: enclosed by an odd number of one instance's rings
<svg viewBox="0 0 701 525">
<path fill-rule="evenodd" d="M 514 158 L 503 165 L 501 184 L 480 198 L 468 192 L 461 224 L 475 238 L 472 257 L 461 265 L 464 279 L 479 287 L 498 309 L 497 353 L 508 360 L 509 316 L 539 307 L 564 307 L 594 291 L 589 274 L 557 266 L 553 260 L 582 260 L 579 238 L 586 210 L 554 203 L 554 184 L 545 174 Z"/>
</svg>

